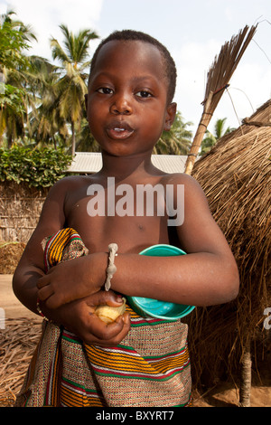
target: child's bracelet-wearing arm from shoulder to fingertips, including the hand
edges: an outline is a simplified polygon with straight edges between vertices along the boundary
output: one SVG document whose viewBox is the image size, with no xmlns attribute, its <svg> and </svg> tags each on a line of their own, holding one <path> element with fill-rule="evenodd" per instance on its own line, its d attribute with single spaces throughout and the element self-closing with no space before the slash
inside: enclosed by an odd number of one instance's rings
<svg viewBox="0 0 271 425">
<path fill-rule="evenodd" d="M 184 222 L 178 226 L 177 233 L 182 249 L 188 255 L 147 257 L 122 254 L 121 247 L 118 247 L 117 272 L 111 280 L 111 288 L 128 296 L 195 306 L 229 302 L 238 295 L 238 269 L 228 242 L 210 214 L 200 185 L 188 175 L 173 175 L 167 184 L 173 184 L 175 188 L 177 184 L 184 184 Z M 89 275 L 93 275 L 98 287 L 105 282 L 107 254 L 97 252 L 79 260 L 82 269 L 89 271 L 86 279 L 80 273 L 78 297 L 87 297 L 93 293 Z M 72 261 L 69 261 L 70 276 Z M 61 264 L 51 270 L 51 274 L 38 283 L 39 296 L 46 300 L 48 307 L 56 308 L 75 299 L 76 294 L 72 279 L 60 280 Z M 64 288 L 67 288 L 66 292 Z"/>
</svg>

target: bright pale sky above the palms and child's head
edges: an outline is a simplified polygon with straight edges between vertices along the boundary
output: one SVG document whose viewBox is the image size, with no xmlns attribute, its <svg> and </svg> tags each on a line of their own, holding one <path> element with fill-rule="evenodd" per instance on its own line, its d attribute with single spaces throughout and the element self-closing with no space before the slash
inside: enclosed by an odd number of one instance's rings
<svg viewBox="0 0 271 425">
<path fill-rule="evenodd" d="M 59 25 L 70 31 L 95 31 L 99 40 L 115 30 L 149 33 L 171 52 L 178 80 L 174 101 L 184 122 L 195 133 L 202 114 L 207 73 L 224 42 L 246 25 L 257 24 L 229 90 L 220 99 L 210 121 L 227 118 L 238 127 L 271 98 L 271 0 L 0 0 L 0 14 L 12 9 L 14 18 L 30 24 L 38 42 L 29 54 L 51 58 L 50 38 L 62 41 Z M 92 56 L 98 45 L 91 41 Z"/>
</svg>

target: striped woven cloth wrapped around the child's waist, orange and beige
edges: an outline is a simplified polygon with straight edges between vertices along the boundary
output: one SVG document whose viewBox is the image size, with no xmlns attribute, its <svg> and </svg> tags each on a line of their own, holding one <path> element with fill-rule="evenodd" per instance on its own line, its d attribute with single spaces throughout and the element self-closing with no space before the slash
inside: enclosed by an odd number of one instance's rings
<svg viewBox="0 0 271 425">
<path fill-rule="evenodd" d="M 58 231 L 44 242 L 48 270 L 87 255 L 79 234 Z M 42 336 L 16 406 L 169 407 L 191 405 L 187 325 L 138 316 L 120 345 L 87 345 L 62 326 L 42 322 Z"/>
</svg>

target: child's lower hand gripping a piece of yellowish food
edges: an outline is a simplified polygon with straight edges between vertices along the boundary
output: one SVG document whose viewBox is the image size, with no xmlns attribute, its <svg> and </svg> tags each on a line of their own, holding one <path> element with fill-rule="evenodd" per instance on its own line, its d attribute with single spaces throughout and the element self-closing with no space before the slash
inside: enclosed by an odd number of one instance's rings
<svg viewBox="0 0 271 425">
<path fill-rule="evenodd" d="M 122 298 L 113 291 L 99 291 L 94 295 L 65 304 L 57 310 L 46 309 L 46 314 L 56 322 L 65 326 L 73 334 L 88 345 L 116 346 L 130 330 L 128 313 L 117 317 L 116 322 L 105 324 L 95 315 L 95 308 L 100 304 L 119 307 Z"/>
</svg>

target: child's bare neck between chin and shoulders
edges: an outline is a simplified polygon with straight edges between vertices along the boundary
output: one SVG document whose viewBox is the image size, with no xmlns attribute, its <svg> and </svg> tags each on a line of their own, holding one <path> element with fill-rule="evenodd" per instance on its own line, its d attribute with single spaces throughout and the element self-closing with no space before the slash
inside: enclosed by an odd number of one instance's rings
<svg viewBox="0 0 271 425">
<path fill-rule="evenodd" d="M 102 169 L 99 175 L 115 177 L 118 181 L 127 177 L 135 177 L 140 175 L 154 175 L 157 169 L 151 161 L 151 154 L 142 156 L 110 156 L 106 152 L 102 152 Z"/>
</svg>

